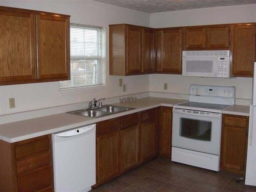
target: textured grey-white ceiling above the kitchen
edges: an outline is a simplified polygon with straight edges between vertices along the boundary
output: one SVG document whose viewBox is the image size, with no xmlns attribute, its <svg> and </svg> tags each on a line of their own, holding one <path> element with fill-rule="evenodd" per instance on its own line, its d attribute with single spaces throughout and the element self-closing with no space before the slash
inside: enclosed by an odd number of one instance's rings
<svg viewBox="0 0 256 192">
<path fill-rule="evenodd" d="M 256 0 L 94 0 L 148 13 L 256 4 Z"/>
</svg>

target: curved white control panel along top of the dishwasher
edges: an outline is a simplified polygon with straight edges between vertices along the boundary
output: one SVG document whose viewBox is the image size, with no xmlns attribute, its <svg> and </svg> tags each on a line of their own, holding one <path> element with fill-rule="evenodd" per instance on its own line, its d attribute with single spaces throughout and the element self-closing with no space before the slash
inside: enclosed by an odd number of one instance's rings
<svg viewBox="0 0 256 192">
<path fill-rule="evenodd" d="M 72 130 L 65 130 L 65 131 L 56 133 L 55 135 L 58 137 L 76 136 L 92 130 L 95 126 L 96 124 L 81 126 L 81 127 L 73 128 Z"/>
</svg>

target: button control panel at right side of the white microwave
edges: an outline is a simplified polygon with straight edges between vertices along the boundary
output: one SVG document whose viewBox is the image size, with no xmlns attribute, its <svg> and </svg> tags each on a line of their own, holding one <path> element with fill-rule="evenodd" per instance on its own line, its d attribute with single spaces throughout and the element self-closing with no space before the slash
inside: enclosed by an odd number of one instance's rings
<svg viewBox="0 0 256 192">
<path fill-rule="evenodd" d="M 230 57 L 218 56 L 217 58 L 217 77 L 230 77 Z"/>
</svg>

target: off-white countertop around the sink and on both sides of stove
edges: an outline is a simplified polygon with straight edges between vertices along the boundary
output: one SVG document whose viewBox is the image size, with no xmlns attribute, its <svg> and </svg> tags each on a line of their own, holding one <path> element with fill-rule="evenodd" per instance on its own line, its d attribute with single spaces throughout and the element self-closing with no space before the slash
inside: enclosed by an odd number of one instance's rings
<svg viewBox="0 0 256 192">
<path fill-rule="evenodd" d="M 113 105 L 126 106 L 135 109 L 99 118 L 89 118 L 73 114 L 61 113 L 40 118 L 33 118 L 29 120 L 1 124 L 0 139 L 10 143 L 18 142 L 21 140 L 26 140 L 46 134 L 52 134 L 55 132 L 136 113 L 150 108 L 155 108 L 159 106 L 172 107 L 173 105 L 180 104 L 186 101 L 187 100 L 148 97 L 138 99 L 134 103 L 113 103 Z M 249 106 L 230 106 L 223 110 L 222 113 L 249 116 Z"/>
</svg>

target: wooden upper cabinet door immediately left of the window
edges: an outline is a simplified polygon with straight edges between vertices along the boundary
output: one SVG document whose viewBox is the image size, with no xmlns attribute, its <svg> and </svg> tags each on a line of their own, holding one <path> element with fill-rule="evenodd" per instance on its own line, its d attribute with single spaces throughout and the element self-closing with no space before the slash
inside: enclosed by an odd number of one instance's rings
<svg viewBox="0 0 256 192">
<path fill-rule="evenodd" d="M 69 79 L 69 30 L 69 18 L 37 15 L 39 79 Z"/>
</svg>

